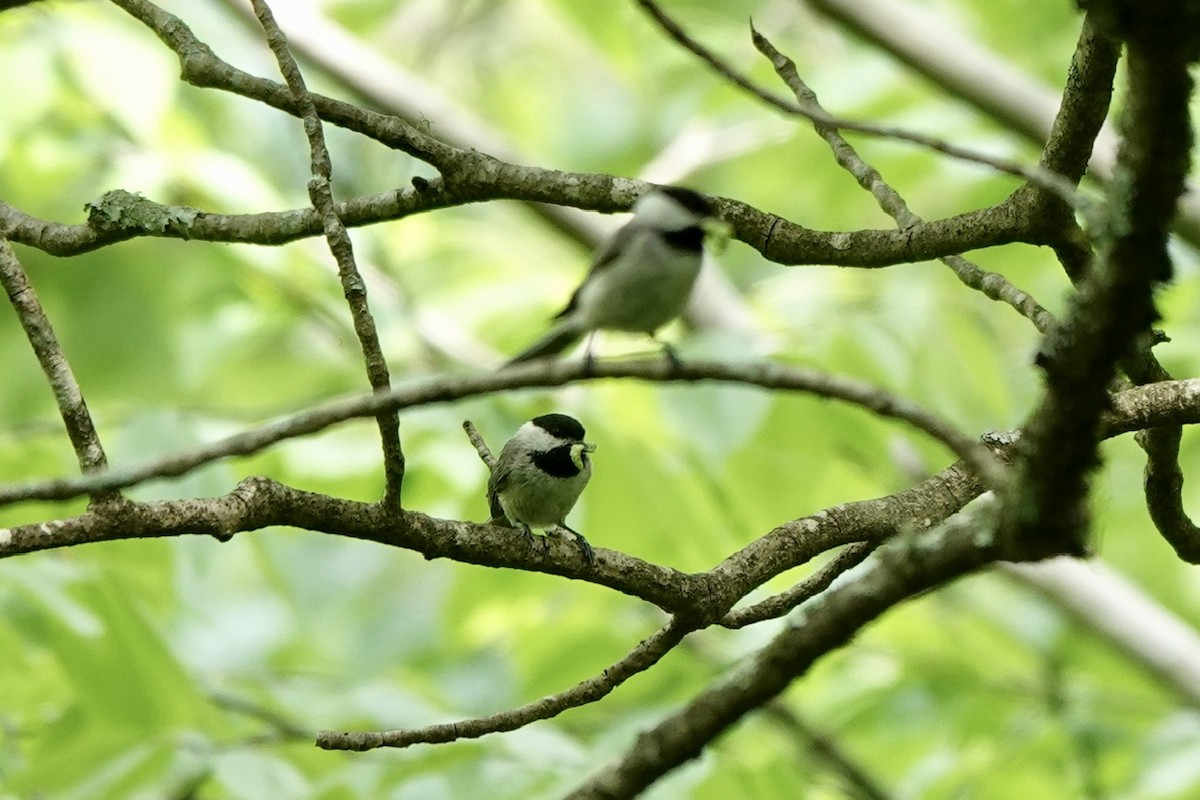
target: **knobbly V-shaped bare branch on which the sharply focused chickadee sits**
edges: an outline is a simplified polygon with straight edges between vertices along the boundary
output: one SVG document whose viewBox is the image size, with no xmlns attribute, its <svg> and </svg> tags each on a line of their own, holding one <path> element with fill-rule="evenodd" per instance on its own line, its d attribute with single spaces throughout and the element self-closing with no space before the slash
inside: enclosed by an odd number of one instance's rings
<svg viewBox="0 0 1200 800">
<path fill-rule="evenodd" d="M 1007 445 L 1000 444 L 1008 441 Z M 998 438 L 997 450 L 1012 440 Z M 205 500 L 122 504 L 89 513 L 0 529 L 0 558 L 121 539 L 209 535 L 227 541 L 235 534 L 270 525 L 290 525 L 401 547 L 425 558 L 559 575 L 616 589 L 664 610 L 684 614 L 697 625 L 718 622 L 738 600 L 770 578 L 816 555 L 854 542 L 876 542 L 898 531 L 920 530 L 958 512 L 984 491 L 959 462 L 920 485 L 883 498 L 828 509 L 768 531 L 707 572 L 683 573 L 610 549 L 596 549 L 596 563 L 580 560 L 565 540 L 547 540 L 548 549 L 530 551 L 510 528 L 436 519 L 301 492 L 269 479 L 246 479 L 229 494 Z M 802 585 L 814 585 L 810 578 Z"/>
</svg>

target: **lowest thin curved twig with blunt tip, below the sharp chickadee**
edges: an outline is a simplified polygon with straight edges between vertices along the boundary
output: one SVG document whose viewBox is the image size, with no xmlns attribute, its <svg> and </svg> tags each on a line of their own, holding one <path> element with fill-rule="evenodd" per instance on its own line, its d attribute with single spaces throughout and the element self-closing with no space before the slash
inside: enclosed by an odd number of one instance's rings
<svg viewBox="0 0 1200 800">
<path fill-rule="evenodd" d="M 317 746 L 325 750 L 373 750 L 376 747 L 408 747 L 418 744 L 442 744 L 460 739 L 478 739 L 490 733 L 516 730 L 524 726 L 558 716 L 568 709 L 596 703 L 634 675 L 646 672 L 695 630 L 679 616 L 671 618 L 664 627 L 643 639 L 620 661 L 571 688 L 550 694 L 533 703 L 514 709 L 460 722 L 445 722 L 409 730 L 380 730 L 336 733 L 323 730 L 317 734 Z"/>
</svg>

